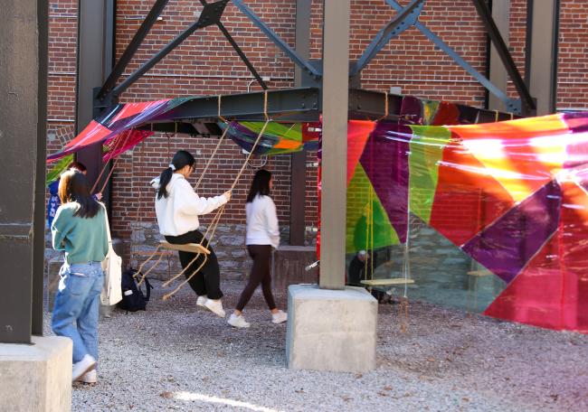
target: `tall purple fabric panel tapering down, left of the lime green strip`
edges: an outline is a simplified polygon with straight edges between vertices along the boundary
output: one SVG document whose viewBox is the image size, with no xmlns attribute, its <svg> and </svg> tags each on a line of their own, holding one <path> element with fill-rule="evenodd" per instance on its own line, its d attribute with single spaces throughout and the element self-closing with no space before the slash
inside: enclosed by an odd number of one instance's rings
<svg viewBox="0 0 588 412">
<path fill-rule="evenodd" d="M 379 122 L 359 159 L 401 242 L 408 219 L 409 126 Z"/>
</svg>

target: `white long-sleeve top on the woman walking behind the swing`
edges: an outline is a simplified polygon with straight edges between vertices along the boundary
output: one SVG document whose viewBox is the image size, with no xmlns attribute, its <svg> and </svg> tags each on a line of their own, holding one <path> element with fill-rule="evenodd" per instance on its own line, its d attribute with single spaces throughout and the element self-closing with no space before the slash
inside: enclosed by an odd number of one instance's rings
<svg viewBox="0 0 588 412">
<path fill-rule="evenodd" d="M 258 194 L 245 206 L 247 212 L 247 245 L 280 246 L 280 228 L 276 205 L 270 196 Z"/>
</svg>

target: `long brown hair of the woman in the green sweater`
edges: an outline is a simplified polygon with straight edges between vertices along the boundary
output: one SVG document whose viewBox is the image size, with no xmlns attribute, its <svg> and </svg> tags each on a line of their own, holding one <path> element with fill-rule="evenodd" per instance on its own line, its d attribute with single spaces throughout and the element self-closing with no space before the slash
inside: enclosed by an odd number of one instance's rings
<svg viewBox="0 0 588 412">
<path fill-rule="evenodd" d="M 62 204 L 77 202 L 80 207 L 73 216 L 84 219 L 93 218 L 100 210 L 100 203 L 90 195 L 90 183 L 86 176 L 77 169 L 70 169 L 62 173 L 59 181 L 59 199 Z"/>
</svg>

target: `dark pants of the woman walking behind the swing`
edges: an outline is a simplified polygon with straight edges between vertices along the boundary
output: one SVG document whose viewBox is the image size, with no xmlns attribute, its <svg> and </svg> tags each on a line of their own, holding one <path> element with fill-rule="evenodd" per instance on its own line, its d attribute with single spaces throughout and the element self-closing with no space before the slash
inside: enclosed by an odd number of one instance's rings
<svg viewBox="0 0 588 412">
<path fill-rule="evenodd" d="M 255 292 L 257 286 L 261 284 L 263 297 L 270 307 L 270 310 L 276 308 L 276 303 L 273 301 L 271 295 L 271 273 L 270 273 L 270 245 L 247 245 L 249 256 L 253 259 L 253 267 L 251 267 L 251 275 L 249 276 L 249 283 L 243 289 L 237 310 L 242 311 L 245 304 L 251 299 L 251 295 Z"/>
</svg>

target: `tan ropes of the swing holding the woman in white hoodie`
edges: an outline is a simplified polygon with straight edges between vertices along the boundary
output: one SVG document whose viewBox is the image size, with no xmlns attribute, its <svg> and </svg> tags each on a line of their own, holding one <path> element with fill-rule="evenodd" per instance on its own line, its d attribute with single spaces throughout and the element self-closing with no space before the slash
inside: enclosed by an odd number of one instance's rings
<svg viewBox="0 0 588 412">
<path fill-rule="evenodd" d="M 220 97 L 219 97 L 219 100 L 218 100 L 218 116 L 219 116 L 219 118 L 222 118 L 224 122 L 227 122 L 227 120 L 224 117 L 221 117 L 221 98 Z M 251 147 L 251 152 L 249 153 L 249 155 L 247 155 L 247 158 L 245 159 L 245 162 L 242 164 L 241 170 L 239 171 L 239 173 L 237 173 L 237 176 L 235 177 L 234 181 L 232 182 L 230 191 L 234 190 L 234 188 L 237 186 L 237 183 L 239 183 L 239 180 L 242 177 L 242 173 L 245 171 L 245 167 L 249 163 L 249 161 L 251 159 L 251 156 L 255 152 L 255 149 L 259 145 L 259 143 L 261 141 L 261 137 L 265 133 L 266 128 L 270 124 L 271 118 L 268 116 L 268 92 L 267 92 L 267 90 L 263 93 L 263 116 L 265 117 L 265 123 L 261 127 L 261 131 L 260 131 L 259 135 L 257 136 L 257 138 L 255 139 L 255 142 L 253 143 L 253 146 Z M 225 133 L 223 133 L 223 136 L 226 136 L 226 131 L 228 130 L 228 128 L 229 127 L 227 125 L 227 127 L 225 128 Z M 222 139 L 223 139 L 223 137 L 222 137 Z M 222 142 L 222 139 L 217 144 L 217 148 L 218 148 L 218 146 L 220 146 L 220 144 Z M 216 150 L 214 151 L 213 155 L 215 155 L 215 154 L 216 154 Z M 212 157 L 213 156 L 211 156 L 211 158 Z M 208 167 L 208 165 L 210 164 L 210 162 L 211 162 L 211 160 L 209 159 L 209 162 L 207 163 L 206 168 Z M 204 175 L 204 173 L 203 173 L 203 175 Z M 198 183 L 196 183 L 196 188 L 200 184 L 201 180 L 202 180 L 202 176 L 201 176 L 201 179 L 198 180 Z M 216 214 L 214 215 L 213 220 L 212 220 L 210 226 L 208 227 L 208 229 L 206 229 L 206 232 L 204 234 L 203 239 L 198 244 L 199 246 L 204 247 L 204 241 L 206 241 L 206 246 L 204 248 L 208 248 L 208 246 L 210 245 L 210 243 L 211 243 L 211 241 L 212 241 L 212 239 L 214 237 L 214 234 L 216 232 L 216 228 L 217 228 L 217 226 L 219 224 L 219 221 L 221 220 L 221 217 L 223 216 L 225 205 L 226 205 L 226 203 L 223 204 L 223 206 L 221 206 L 218 209 L 218 211 L 216 212 Z M 210 237 L 208 236 L 209 233 L 210 233 Z M 156 250 L 159 249 L 159 248 L 161 248 L 161 245 L 159 245 L 156 248 Z M 188 265 L 186 265 L 186 267 L 179 274 L 175 275 L 174 277 L 172 277 L 168 281 L 166 281 L 166 283 L 163 286 L 169 286 L 169 284 L 171 282 L 173 282 L 175 279 L 177 279 L 179 276 L 184 275 L 185 274 L 185 270 L 188 267 L 191 267 L 194 264 L 194 262 L 198 259 L 198 257 L 200 257 L 200 255 L 202 255 L 202 251 L 199 251 L 198 253 L 196 253 L 196 256 L 192 259 L 192 261 Z M 150 260 L 150 258 L 147 259 L 147 261 Z M 147 263 L 147 261 L 146 261 L 146 263 Z M 204 261 L 202 262 L 202 264 L 196 270 L 194 270 L 192 272 L 192 274 L 190 276 L 188 276 L 185 279 L 185 281 L 182 282 L 179 286 L 177 286 L 172 292 L 164 295 L 163 296 L 163 300 L 167 300 L 172 295 L 175 295 L 175 293 L 177 293 L 182 288 L 182 286 L 185 286 L 186 283 L 188 283 L 196 274 L 198 274 L 200 272 L 200 270 L 202 269 L 202 267 L 204 267 L 204 265 L 206 264 L 207 261 L 208 261 L 208 255 L 204 255 Z M 157 263 L 158 263 L 158 261 L 157 261 Z M 157 263 L 156 263 L 156 265 L 157 265 Z M 156 265 L 154 265 L 154 266 L 156 266 Z M 153 267 L 151 267 L 151 268 L 153 268 Z M 142 276 L 141 279 L 140 279 L 140 281 L 138 282 L 138 285 L 139 286 L 141 285 L 141 283 L 143 282 L 144 279 L 145 279 L 145 276 Z"/>
</svg>

